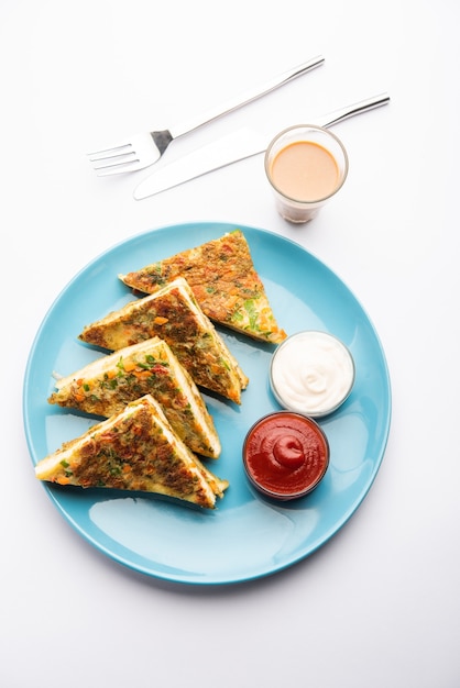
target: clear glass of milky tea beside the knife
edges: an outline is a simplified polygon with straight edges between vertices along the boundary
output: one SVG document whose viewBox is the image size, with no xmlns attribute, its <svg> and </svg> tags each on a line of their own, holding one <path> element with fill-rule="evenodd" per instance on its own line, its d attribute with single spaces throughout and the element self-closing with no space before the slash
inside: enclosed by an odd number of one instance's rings
<svg viewBox="0 0 460 688">
<path fill-rule="evenodd" d="M 289 222 L 308 222 L 343 186 L 348 155 L 329 130 L 297 124 L 270 143 L 265 173 L 280 214 Z"/>
</svg>

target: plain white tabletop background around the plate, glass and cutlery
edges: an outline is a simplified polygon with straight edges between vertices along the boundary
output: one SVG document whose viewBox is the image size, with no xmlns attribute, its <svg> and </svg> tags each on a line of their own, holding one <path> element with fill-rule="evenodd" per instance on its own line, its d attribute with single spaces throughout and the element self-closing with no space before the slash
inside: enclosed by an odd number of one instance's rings
<svg viewBox="0 0 460 688">
<path fill-rule="evenodd" d="M 460 685 L 458 26 L 456 0 L 2 0 L 2 686 Z M 308 225 L 276 214 L 261 156 L 143 201 L 149 170 L 99 179 L 88 165 L 88 149 L 317 54 L 319 69 L 168 152 L 388 91 L 336 127 L 349 178 Z M 351 521 L 234 587 L 156 581 L 90 547 L 36 482 L 22 424 L 30 347 L 73 275 L 189 221 L 266 229 L 326 263 L 370 313 L 393 386 L 385 458 Z"/>
</svg>

